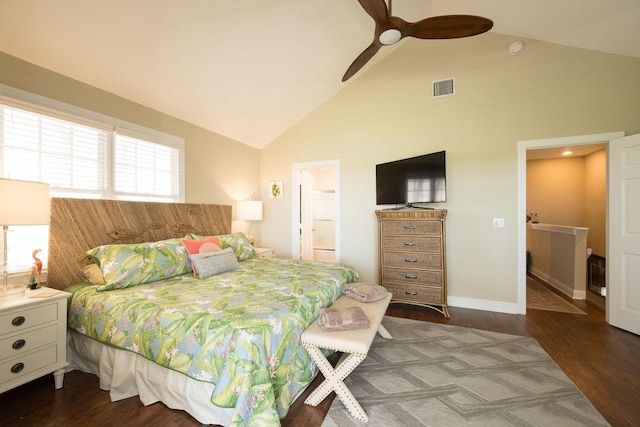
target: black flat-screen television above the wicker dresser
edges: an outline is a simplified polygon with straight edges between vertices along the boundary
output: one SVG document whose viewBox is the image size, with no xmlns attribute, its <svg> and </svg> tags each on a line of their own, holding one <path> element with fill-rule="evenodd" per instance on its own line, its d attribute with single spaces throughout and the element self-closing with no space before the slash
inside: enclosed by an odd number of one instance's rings
<svg viewBox="0 0 640 427">
<path fill-rule="evenodd" d="M 447 201 L 444 151 L 376 165 L 376 204 L 406 205 Z"/>
</svg>

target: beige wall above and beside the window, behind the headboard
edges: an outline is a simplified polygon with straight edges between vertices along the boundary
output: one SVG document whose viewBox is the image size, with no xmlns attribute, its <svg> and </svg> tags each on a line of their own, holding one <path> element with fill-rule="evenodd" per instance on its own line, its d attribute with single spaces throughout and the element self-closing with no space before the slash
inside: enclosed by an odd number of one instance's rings
<svg viewBox="0 0 640 427">
<path fill-rule="evenodd" d="M 186 202 L 233 205 L 259 196 L 260 151 L 246 144 L 2 52 L 0 83 L 184 138 Z"/>
</svg>

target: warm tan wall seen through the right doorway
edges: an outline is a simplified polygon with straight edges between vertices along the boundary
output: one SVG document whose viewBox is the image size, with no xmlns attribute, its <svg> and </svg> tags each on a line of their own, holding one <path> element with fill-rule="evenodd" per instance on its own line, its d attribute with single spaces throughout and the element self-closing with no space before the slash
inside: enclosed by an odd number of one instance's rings
<svg viewBox="0 0 640 427">
<path fill-rule="evenodd" d="M 527 212 L 545 224 L 587 227 L 587 246 L 606 255 L 607 152 L 527 162 Z"/>
</svg>

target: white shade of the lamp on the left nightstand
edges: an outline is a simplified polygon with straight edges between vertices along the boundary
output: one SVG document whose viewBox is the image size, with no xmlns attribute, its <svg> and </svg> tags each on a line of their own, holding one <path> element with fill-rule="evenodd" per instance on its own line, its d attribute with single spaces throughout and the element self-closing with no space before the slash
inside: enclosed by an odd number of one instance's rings
<svg viewBox="0 0 640 427">
<path fill-rule="evenodd" d="M 49 184 L 0 178 L 0 226 L 49 224 Z"/>
</svg>

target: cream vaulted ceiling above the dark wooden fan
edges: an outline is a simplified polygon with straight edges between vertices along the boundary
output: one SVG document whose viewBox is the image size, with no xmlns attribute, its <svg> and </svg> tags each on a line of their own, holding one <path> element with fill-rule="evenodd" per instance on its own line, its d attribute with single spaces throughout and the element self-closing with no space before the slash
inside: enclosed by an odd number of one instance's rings
<svg viewBox="0 0 640 427">
<path fill-rule="evenodd" d="M 393 14 L 480 15 L 640 57 L 638 0 L 395 0 Z M 373 27 L 357 0 L 0 0 L 0 51 L 256 148 L 402 44 L 438 43 L 404 39 L 342 83 Z"/>
</svg>

